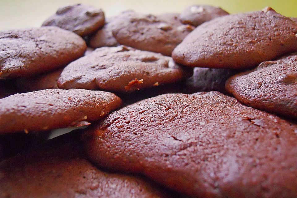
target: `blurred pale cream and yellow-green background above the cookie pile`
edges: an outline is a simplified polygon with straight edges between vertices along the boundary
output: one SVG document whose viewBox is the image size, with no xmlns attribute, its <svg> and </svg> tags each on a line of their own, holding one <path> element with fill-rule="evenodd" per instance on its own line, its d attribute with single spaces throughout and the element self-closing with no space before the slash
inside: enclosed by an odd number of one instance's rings
<svg viewBox="0 0 297 198">
<path fill-rule="evenodd" d="M 232 14 L 270 6 L 282 15 L 297 17 L 297 0 L 0 0 L 0 29 L 39 27 L 59 7 L 75 3 L 102 8 L 106 16 L 127 9 L 151 14 L 181 12 L 192 4 L 209 4 Z"/>
</svg>

